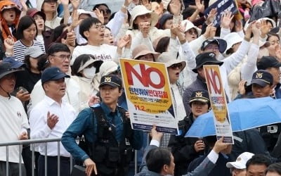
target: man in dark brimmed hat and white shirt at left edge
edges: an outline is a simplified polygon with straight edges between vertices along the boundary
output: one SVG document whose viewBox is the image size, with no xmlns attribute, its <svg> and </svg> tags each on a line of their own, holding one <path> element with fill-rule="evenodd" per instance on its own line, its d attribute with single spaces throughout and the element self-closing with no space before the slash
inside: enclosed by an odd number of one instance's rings
<svg viewBox="0 0 281 176">
<path fill-rule="evenodd" d="M 22 102 L 11 96 L 15 88 L 15 73 L 22 68 L 12 68 L 11 63 L 0 63 L 0 142 L 12 142 L 27 139 L 29 128 L 27 115 Z M 18 146 L 8 147 L 8 174 L 20 175 Z M 6 175 L 6 147 L 0 147 L 0 176 Z M 22 161 L 22 159 L 21 159 Z M 22 175 L 25 175 L 25 166 L 22 165 Z"/>
</svg>

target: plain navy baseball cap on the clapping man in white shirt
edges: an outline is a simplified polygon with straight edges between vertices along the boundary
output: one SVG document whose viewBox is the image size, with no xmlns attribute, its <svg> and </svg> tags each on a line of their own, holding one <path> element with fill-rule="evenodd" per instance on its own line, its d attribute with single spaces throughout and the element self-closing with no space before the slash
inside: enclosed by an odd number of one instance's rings
<svg viewBox="0 0 281 176">
<path fill-rule="evenodd" d="M 46 70 L 44 70 L 44 72 L 41 75 L 41 82 L 42 84 L 44 84 L 47 81 L 60 80 L 61 78 L 64 77 L 70 77 L 70 76 L 63 73 L 60 70 L 60 68 L 57 67 L 46 68 Z"/>
</svg>

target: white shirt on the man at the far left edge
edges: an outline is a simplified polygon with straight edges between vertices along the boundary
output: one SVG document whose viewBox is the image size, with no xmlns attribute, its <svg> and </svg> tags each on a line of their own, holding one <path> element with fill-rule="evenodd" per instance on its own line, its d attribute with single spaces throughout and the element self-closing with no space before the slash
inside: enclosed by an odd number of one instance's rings
<svg viewBox="0 0 281 176">
<path fill-rule="evenodd" d="M 0 95 L 0 142 L 18 141 L 22 132 L 27 132 L 30 128 L 28 125 L 27 115 L 22 106 L 22 102 L 11 96 L 11 99 Z M 8 161 L 19 163 L 18 156 L 21 151 L 18 146 L 8 147 Z M 0 161 L 6 161 L 6 147 L 0 147 Z"/>
</svg>

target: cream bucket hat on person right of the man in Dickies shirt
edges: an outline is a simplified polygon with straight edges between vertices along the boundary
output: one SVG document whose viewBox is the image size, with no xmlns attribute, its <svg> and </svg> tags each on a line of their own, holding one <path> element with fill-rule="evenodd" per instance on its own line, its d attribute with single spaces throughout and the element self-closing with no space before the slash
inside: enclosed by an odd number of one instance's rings
<svg viewBox="0 0 281 176">
<path fill-rule="evenodd" d="M 133 28 L 133 21 L 136 20 L 136 18 L 139 16 L 139 15 L 145 15 L 145 14 L 148 14 L 150 13 L 151 14 L 151 26 L 155 26 L 158 22 L 158 18 L 159 16 L 157 15 L 157 13 L 154 13 L 152 11 L 149 11 L 148 8 L 146 8 L 145 6 L 143 5 L 138 5 L 138 6 L 135 6 L 132 10 L 132 13 L 131 13 L 131 22 L 130 22 L 130 28 L 132 29 Z"/>
</svg>

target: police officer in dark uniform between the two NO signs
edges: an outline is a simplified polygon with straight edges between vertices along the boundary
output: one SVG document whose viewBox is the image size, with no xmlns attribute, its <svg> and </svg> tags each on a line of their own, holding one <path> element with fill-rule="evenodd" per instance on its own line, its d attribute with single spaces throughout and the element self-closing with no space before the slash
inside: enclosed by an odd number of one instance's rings
<svg viewBox="0 0 281 176">
<path fill-rule="evenodd" d="M 171 153 L 173 153 L 176 164 L 174 175 L 185 175 L 189 163 L 200 155 L 204 155 L 205 144 L 202 139 L 185 137 L 185 134 L 199 115 L 209 111 L 211 104 L 208 92 L 206 90 L 193 91 L 189 103 L 191 107 L 190 115 L 178 122 L 181 135 L 171 135 L 169 140 L 168 146 L 171 147 Z"/>
</svg>

